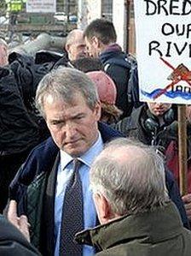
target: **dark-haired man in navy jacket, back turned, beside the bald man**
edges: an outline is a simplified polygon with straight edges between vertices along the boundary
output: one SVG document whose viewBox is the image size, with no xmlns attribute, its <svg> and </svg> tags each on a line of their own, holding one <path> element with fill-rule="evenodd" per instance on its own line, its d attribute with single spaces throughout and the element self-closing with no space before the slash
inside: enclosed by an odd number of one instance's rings
<svg viewBox="0 0 191 256">
<path fill-rule="evenodd" d="M 117 87 L 116 106 L 123 111 L 120 118 L 130 116 L 136 104 L 135 98 L 138 98 L 138 87 L 136 87 L 138 80 L 134 80 L 133 86 L 129 84 L 132 72 L 130 59 L 136 62 L 135 58 L 129 57 L 116 43 L 117 34 L 111 21 L 104 19 L 91 21 L 84 30 L 84 39 L 89 55 L 100 58 L 104 71 L 113 79 Z"/>
</svg>

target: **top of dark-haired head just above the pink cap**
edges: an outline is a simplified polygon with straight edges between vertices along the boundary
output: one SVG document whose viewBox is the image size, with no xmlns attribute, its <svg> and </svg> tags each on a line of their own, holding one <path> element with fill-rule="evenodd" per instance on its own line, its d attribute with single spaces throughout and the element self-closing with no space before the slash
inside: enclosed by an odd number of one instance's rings
<svg viewBox="0 0 191 256">
<path fill-rule="evenodd" d="M 78 70 L 83 71 L 84 73 L 90 71 L 103 70 L 103 65 L 99 58 L 82 57 L 75 61 L 72 61 L 71 63 L 74 68 L 77 68 Z"/>
</svg>

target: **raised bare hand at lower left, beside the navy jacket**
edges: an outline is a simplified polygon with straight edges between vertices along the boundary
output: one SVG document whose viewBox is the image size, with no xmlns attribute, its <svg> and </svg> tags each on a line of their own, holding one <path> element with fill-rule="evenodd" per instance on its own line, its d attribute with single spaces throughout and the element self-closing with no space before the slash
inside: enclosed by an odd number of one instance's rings
<svg viewBox="0 0 191 256">
<path fill-rule="evenodd" d="M 27 241 L 30 241 L 29 228 L 30 224 L 26 215 L 17 215 L 17 203 L 14 200 L 10 200 L 8 209 L 8 220 L 12 223 L 20 232 L 26 237 Z"/>
</svg>

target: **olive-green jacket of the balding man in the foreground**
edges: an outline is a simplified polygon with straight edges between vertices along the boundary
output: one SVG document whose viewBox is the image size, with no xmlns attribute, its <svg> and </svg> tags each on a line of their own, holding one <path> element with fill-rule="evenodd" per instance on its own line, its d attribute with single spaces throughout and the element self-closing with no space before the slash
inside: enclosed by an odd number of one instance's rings
<svg viewBox="0 0 191 256">
<path fill-rule="evenodd" d="M 76 235 L 96 245 L 103 256 L 190 256 L 191 231 L 182 227 L 177 208 L 167 203 L 156 211 L 120 217 Z"/>
</svg>

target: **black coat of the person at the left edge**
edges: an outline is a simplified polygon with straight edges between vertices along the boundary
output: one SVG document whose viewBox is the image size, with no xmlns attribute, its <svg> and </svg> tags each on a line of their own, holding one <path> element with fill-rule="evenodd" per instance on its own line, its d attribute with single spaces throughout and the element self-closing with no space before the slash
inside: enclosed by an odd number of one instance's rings
<svg viewBox="0 0 191 256">
<path fill-rule="evenodd" d="M 9 183 L 34 146 L 49 136 L 33 98 L 39 80 L 49 72 L 32 57 L 12 53 L 0 67 L 0 212 L 7 203 Z"/>
</svg>

